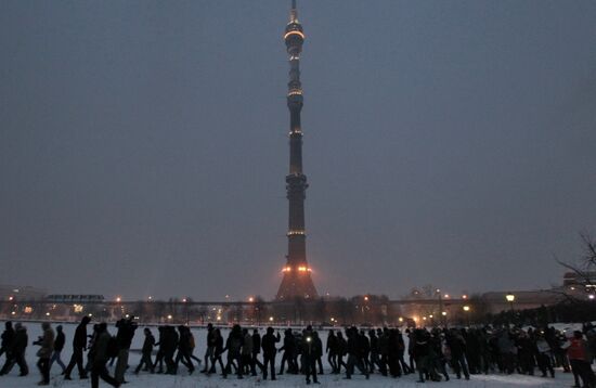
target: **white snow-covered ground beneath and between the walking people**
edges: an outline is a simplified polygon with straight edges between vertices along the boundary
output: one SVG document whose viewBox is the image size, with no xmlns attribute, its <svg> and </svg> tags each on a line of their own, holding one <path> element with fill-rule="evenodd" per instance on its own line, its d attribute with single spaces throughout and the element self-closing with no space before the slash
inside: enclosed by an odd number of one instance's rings
<svg viewBox="0 0 596 388">
<path fill-rule="evenodd" d="M 11 374 L 8 376 L 0 376 L 0 388 L 18 388 L 18 387 L 34 387 L 37 386 L 37 383 L 41 379 L 39 371 L 37 370 L 36 362 L 36 351 L 37 346 L 31 346 L 31 342 L 37 339 L 41 334 L 41 325 L 39 323 L 25 323 L 27 326 L 27 333 L 29 336 L 29 346 L 27 347 L 27 363 L 29 365 L 29 375 L 26 377 L 18 377 L 18 366 L 14 366 Z M 56 324 L 52 324 L 52 327 L 55 329 Z M 62 360 L 65 364 L 68 364 L 70 360 L 72 352 L 72 340 L 75 333 L 75 324 L 63 324 L 64 333 L 66 335 L 66 347 L 62 353 Z M 3 323 L 0 326 L 3 328 Z M 277 377 L 276 381 L 271 380 L 261 380 L 259 377 L 245 376 L 244 379 L 238 380 L 235 375 L 229 375 L 228 379 L 222 379 L 221 376 L 211 375 L 207 377 L 206 375 L 195 372 L 193 375 L 187 375 L 186 368 L 183 365 L 180 365 L 178 376 L 166 376 L 166 375 L 151 375 L 146 372 L 141 372 L 138 376 L 132 373 L 132 370 L 138 365 L 140 360 L 140 349 L 143 342 L 143 332 L 142 326 L 137 331 L 131 347 L 129 365 L 131 368 L 126 375 L 126 379 L 129 384 L 124 385 L 127 388 L 195 388 L 195 387 L 206 387 L 206 388 L 217 388 L 217 387 L 302 387 L 306 385 L 303 376 L 297 375 L 287 375 L 284 374 Z M 157 328 L 151 327 L 154 336 L 157 339 Z M 92 325 L 88 326 L 88 334 L 91 334 Z M 264 334 L 264 329 L 261 329 L 261 335 Z M 111 334 L 116 334 L 114 326 L 109 327 Z M 204 328 L 193 328 L 193 334 L 196 340 L 196 349 L 194 354 L 199 359 L 203 359 L 205 353 L 205 339 L 206 339 L 206 329 Z M 222 331 L 224 339 L 228 336 L 228 331 Z M 326 333 L 321 332 L 323 339 L 323 345 L 326 340 Z M 407 338 L 404 338 L 407 340 Z M 262 357 L 261 357 L 262 360 Z M 406 357 L 407 360 L 407 357 Z M 2 363 L 4 362 L 4 357 L 1 358 Z M 276 370 L 278 371 L 278 364 L 281 357 L 277 357 Z M 324 367 L 325 372 L 331 371 L 329 365 L 326 363 L 324 357 Z M 218 368 L 219 372 L 219 368 Z M 60 375 L 61 368 L 57 364 L 52 366 L 52 380 L 50 386 L 53 387 L 90 387 L 90 380 L 78 380 L 78 373 L 73 371 L 73 380 L 65 381 Z M 113 374 L 113 368 L 111 368 Z M 540 372 L 536 370 L 536 373 L 540 375 Z M 451 376 L 451 373 L 450 373 Z M 542 378 L 534 376 L 523 376 L 523 375 L 472 375 L 469 381 L 457 380 L 455 375 L 452 375 L 452 380 L 442 381 L 442 383 L 432 383 L 428 381 L 425 384 L 417 384 L 417 375 L 407 375 L 397 379 L 390 377 L 383 377 L 379 374 L 374 374 L 371 376 L 371 379 L 366 381 L 364 376 L 359 375 L 358 373 L 352 376 L 352 380 L 345 380 L 344 375 L 329 375 L 325 374 L 319 377 L 321 387 L 371 387 L 371 388 L 385 388 L 385 387 L 424 387 L 424 386 L 440 386 L 440 387 L 469 387 L 469 388 L 502 388 L 502 387 L 571 387 L 573 385 L 573 377 L 571 374 L 563 374 L 561 371 L 556 371 L 556 378 Z M 100 381 L 100 386 L 108 387 L 107 384 Z"/>
</svg>

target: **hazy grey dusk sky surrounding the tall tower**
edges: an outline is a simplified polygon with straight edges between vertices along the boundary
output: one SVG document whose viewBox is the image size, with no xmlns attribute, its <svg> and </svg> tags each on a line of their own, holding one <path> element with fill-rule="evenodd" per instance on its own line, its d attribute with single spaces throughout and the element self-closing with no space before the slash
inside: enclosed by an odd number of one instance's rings
<svg viewBox="0 0 596 388">
<path fill-rule="evenodd" d="M 560 283 L 596 232 L 596 2 L 298 5 L 319 292 Z M 0 283 L 273 297 L 288 9 L 1 1 Z"/>
</svg>

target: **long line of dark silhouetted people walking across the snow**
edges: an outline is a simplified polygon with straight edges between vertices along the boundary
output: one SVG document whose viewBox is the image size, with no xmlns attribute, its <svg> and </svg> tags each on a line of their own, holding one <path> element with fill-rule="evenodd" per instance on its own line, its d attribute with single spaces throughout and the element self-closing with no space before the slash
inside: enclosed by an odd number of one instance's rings
<svg viewBox="0 0 596 388">
<path fill-rule="evenodd" d="M 61 359 L 66 342 L 63 327 L 57 325 L 54 333 L 50 323 L 41 324 L 42 335 L 33 341 L 39 346 L 37 366 L 42 377 L 39 385 L 50 384 L 50 368 L 54 362 L 62 368 L 66 380 L 72 379 L 77 367 L 80 379 L 90 375 L 92 387 L 99 387 L 100 378 L 114 387 L 126 383 L 130 347 L 138 328 L 134 319 L 118 321 L 115 336 L 108 333 L 106 323 L 95 324 L 88 335 L 90 321 L 83 316 L 77 326 L 67 365 Z M 141 361 L 131 368 L 132 373 L 176 375 L 182 364 L 189 374 L 193 374 L 202 360 L 193 354 L 195 338 L 191 329 L 184 325 L 166 325 L 159 326 L 157 332 L 156 339 L 150 327 L 143 329 Z M 261 336 L 258 328 L 234 325 L 224 340 L 220 328 L 209 324 L 205 340 L 200 372 L 212 375 L 219 368 L 223 378 L 230 374 L 237 378 L 260 374 L 263 379 L 275 380 L 276 376 L 288 373 L 303 375 L 307 384 L 318 384 L 319 375 L 324 373 L 345 373 L 345 378 L 350 379 L 358 370 L 365 379 L 375 373 L 393 378 L 416 374 L 417 381 L 424 383 L 449 380 L 450 374 L 469 379 L 475 374 L 534 375 L 540 372 L 542 377 L 554 378 L 555 367 L 558 367 L 563 373 L 573 374 L 575 387 L 596 387 L 592 371 L 596 329 L 589 325 L 570 335 L 553 327 L 435 327 L 407 328 L 403 333 L 388 327 L 347 327 L 344 331 L 328 329 L 323 344 L 312 326 L 302 331 L 286 328 L 283 336 L 268 327 Z M 12 322 L 5 323 L 0 348 L 0 357 L 5 355 L 5 362 L 0 375 L 10 373 L 14 365 L 18 366 L 20 376 L 29 373 L 25 359 L 28 341 L 27 328 L 23 324 L 16 323 L 13 327 Z M 277 353 L 281 353 L 278 365 Z M 324 370 L 323 357 L 326 357 L 331 370 Z M 108 366 L 114 366 L 113 375 Z"/>
</svg>

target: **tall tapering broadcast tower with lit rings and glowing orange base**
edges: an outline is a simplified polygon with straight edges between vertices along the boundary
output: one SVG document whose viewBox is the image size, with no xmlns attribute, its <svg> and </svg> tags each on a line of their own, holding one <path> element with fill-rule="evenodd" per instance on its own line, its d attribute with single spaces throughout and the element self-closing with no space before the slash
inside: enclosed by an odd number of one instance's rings
<svg viewBox="0 0 596 388">
<path fill-rule="evenodd" d="M 300 83 L 300 53 L 305 42 L 302 25 L 298 22 L 296 0 L 291 2 L 289 23 L 284 40 L 289 55 L 289 82 L 287 85 L 287 107 L 289 109 L 289 173 L 286 176 L 286 191 L 289 202 L 288 251 L 284 279 L 277 292 L 278 300 L 314 298 L 318 296 L 307 262 L 307 235 L 305 225 L 305 198 L 309 186 L 302 172 L 302 128 L 300 112 L 303 96 Z"/>
</svg>

